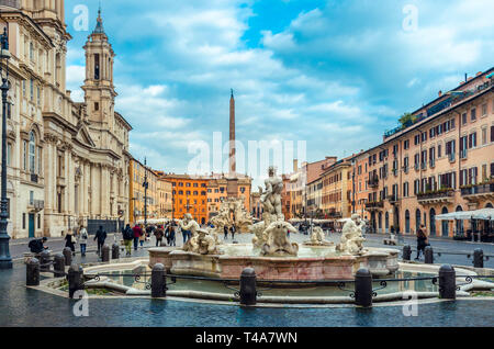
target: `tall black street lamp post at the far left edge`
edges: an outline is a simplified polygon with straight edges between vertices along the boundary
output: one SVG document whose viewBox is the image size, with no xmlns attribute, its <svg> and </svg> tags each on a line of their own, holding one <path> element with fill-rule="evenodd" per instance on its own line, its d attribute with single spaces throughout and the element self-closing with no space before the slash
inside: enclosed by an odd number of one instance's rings
<svg viewBox="0 0 494 349">
<path fill-rule="evenodd" d="M 7 31 L 9 23 L 5 22 L 3 34 L 0 35 L 0 76 L 2 85 L 2 179 L 1 179 L 1 211 L 0 211 L 0 269 L 12 269 L 12 258 L 9 251 L 10 236 L 7 234 L 9 212 L 7 210 L 7 95 L 9 93 L 9 33 Z M 5 76 L 1 69 L 1 64 L 5 60 Z"/>
</svg>

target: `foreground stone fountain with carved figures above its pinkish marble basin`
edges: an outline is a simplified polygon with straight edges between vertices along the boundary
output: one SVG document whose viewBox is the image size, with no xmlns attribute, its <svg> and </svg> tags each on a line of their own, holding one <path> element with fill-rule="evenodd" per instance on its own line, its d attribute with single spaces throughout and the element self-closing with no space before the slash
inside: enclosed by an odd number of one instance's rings
<svg viewBox="0 0 494 349">
<path fill-rule="evenodd" d="M 364 223 L 358 215 L 352 215 L 345 224 L 337 246 L 324 240 L 321 227 L 313 227 L 310 241 L 301 246 L 291 243 L 290 233 L 297 230 L 284 221 L 281 212 L 283 182 L 276 176 L 273 167 L 269 168 L 265 187 L 260 189 L 262 221 L 248 226 L 254 234 L 252 244 L 220 243 L 217 227 L 228 224 L 231 210 L 236 212 L 236 218 L 246 219 L 235 201 L 227 200 L 213 223 L 215 228 L 202 229 L 190 214 L 186 214 L 179 224 L 191 232 L 191 239 L 182 249 L 149 249 L 149 266 L 160 262 L 170 273 L 224 279 L 238 278 L 244 268 L 250 267 L 260 281 L 349 280 L 361 267 L 369 268 L 375 277 L 397 270 L 397 250 L 363 248 L 361 228 Z"/>
</svg>

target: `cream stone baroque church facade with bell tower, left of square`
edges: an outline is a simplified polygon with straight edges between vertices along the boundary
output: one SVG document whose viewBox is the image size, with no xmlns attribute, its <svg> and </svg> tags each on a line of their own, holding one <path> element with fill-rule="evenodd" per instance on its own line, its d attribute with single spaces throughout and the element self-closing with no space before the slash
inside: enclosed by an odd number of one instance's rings
<svg viewBox="0 0 494 349">
<path fill-rule="evenodd" d="M 8 198 L 12 238 L 111 229 L 128 216 L 128 133 L 114 110 L 114 52 L 101 13 L 88 36 L 85 102 L 66 90 L 64 0 L 0 0 L 8 23 Z M 3 21 L 2 21 L 3 20 Z M 2 69 L 5 69 L 2 66 Z"/>
</svg>

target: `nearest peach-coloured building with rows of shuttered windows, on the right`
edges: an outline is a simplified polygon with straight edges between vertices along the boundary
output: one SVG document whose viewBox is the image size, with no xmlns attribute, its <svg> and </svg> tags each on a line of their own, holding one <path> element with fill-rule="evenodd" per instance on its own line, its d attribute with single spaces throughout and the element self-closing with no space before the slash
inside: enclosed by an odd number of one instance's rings
<svg viewBox="0 0 494 349">
<path fill-rule="evenodd" d="M 381 145 L 356 158 L 357 201 L 364 202 L 375 232 L 415 234 L 425 224 L 431 236 L 451 237 L 469 223 L 436 222 L 436 215 L 493 206 L 493 72 L 439 92 L 413 112 L 413 124 L 388 132 Z"/>
</svg>

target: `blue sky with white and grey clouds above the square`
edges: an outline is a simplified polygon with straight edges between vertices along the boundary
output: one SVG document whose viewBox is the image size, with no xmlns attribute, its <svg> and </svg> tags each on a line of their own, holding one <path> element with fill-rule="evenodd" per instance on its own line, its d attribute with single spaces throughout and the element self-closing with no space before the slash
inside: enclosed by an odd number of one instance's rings
<svg viewBox="0 0 494 349">
<path fill-rule="evenodd" d="M 83 3 L 89 31 L 78 30 L 81 1 L 66 1 L 76 101 L 99 1 Z M 188 170 L 191 140 L 228 136 L 231 88 L 246 148 L 305 140 L 314 161 L 372 147 L 401 114 L 493 66 L 493 13 L 492 0 L 102 1 L 131 151 L 173 172 Z"/>
</svg>

